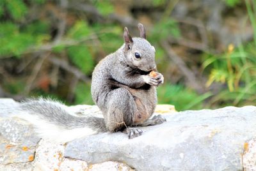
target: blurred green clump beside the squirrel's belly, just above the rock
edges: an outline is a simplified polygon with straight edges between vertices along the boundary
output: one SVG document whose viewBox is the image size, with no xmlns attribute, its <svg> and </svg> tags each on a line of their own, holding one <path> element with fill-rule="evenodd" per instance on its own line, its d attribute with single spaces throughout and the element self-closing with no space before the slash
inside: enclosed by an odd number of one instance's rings
<svg viewBox="0 0 256 171">
<path fill-rule="evenodd" d="M 200 109 L 205 99 L 211 93 L 198 95 L 195 91 L 185 88 L 183 85 L 165 84 L 157 88 L 159 103 L 172 104 L 179 110 Z"/>
</svg>

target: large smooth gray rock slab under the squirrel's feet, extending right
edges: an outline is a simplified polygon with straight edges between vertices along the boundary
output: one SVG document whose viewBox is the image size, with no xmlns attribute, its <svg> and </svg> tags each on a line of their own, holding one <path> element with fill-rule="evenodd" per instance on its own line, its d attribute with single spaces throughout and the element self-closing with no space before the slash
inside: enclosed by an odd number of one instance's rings
<svg viewBox="0 0 256 171">
<path fill-rule="evenodd" d="M 164 115 L 140 137 L 102 133 L 69 142 L 65 156 L 136 170 L 243 170 L 244 142 L 256 135 L 256 107 L 225 107 Z"/>
</svg>

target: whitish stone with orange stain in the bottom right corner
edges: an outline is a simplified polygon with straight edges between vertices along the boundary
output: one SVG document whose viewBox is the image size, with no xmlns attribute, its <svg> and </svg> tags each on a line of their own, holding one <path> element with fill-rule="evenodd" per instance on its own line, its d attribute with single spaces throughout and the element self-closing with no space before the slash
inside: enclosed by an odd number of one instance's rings
<svg viewBox="0 0 256 171">
<path fill-rule="evenodd" d="M 256 170 L 256 138 L 244 143 L 244 170 Z"/>
</svg>

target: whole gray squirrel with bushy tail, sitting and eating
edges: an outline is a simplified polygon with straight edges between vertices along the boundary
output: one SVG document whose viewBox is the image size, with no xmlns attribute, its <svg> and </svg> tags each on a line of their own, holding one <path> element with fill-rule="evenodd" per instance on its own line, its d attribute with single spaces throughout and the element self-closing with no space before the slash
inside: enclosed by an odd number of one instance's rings
<svg viewBox="0 0 256 171">
<path fill-rule="evenodd" d="M 92 98 L 104 118 L 74 111 L 51 99 L 28 99 L 13 107 L 0 104 L 0 115 L 20 117 L 32 123 L 40 137 L 68 142 L 99 132 L 123 131 L 129 138 L 143 132 L 132 126 L 161 124 L 164 117 L 149 119 L 157 104 L 156 87 L 164 78 L 156 70 L 155 48 L 146 40 L 145 28 L 138 24 L 140 38 L 131 38 L 124 29 L 124 45 L 97 64 L 92 75 Z M 149 75 L 154 71 L 156 77 Z"/>
</svg>

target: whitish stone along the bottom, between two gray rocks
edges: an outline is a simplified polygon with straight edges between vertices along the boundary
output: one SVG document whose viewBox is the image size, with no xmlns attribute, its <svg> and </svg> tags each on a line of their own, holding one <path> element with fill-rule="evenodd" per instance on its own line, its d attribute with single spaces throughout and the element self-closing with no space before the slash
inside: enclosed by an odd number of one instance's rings
<svg viewBox="0 0 256 171">
<path fill-rule="evenodd" d="M 63 153 L 65 145 L 55 144 L 51 140 L 41 140 L 36 149 L 34 170 L 132 170 L 124 163 L 106 161 L 95 165 L 88 165 L 83 160 L 65 158 Z"/>
</svg>

